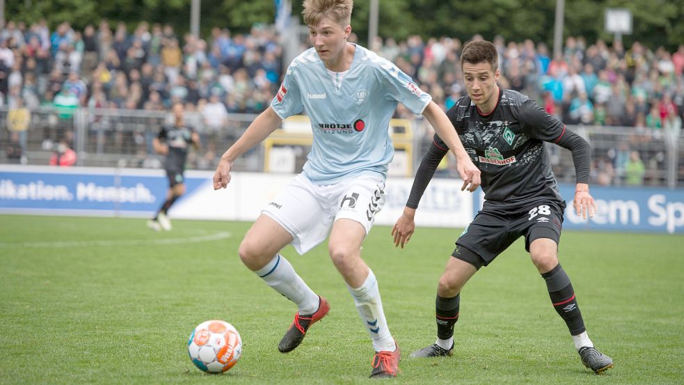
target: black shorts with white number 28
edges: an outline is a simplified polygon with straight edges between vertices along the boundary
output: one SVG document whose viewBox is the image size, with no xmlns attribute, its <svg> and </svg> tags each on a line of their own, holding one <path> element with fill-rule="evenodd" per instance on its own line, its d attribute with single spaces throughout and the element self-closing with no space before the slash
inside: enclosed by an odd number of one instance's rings
<svg viewBox="0 0 684 385">
<path fill-rule="evenodd" d="M 456 241 L 456 245 L 470 249 L 482 260 L 469 260 L 472 259 L 472 253 L 470 258 L 461 257 L 463 253 L 456 253 L 458 246 L 452 256 L 479 268 L 489 265 L 522 236 L 525 236 L 527 251 L 530 251 L 530 244 L 534 239 L 553 239 L 558 244 L 564 208 L 565 203 L 559 205 L 555 202 L 537 201 L 520 210 L 482 209 Z"/>
</svg>

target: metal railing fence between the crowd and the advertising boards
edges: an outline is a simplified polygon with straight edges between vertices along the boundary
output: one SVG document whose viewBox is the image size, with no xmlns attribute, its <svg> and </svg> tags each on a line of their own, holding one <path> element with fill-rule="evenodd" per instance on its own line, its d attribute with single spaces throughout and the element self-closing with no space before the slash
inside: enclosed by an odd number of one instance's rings
<svg viewBox="0 0 684 385">
<path fill-rule="evenodd" d="M 76 109 L 65 111 L 41 107 L 31 111 L 31 123 L 26 132 L 20 157 L 13 156 L 16 134 L 7 127 L 8 109 L 0 108 L 0 163 L 45 165 L 65 139 L 77 153 L 78 166 L 161 167 L 161 157 L 152 150 L 152 139 L 161 125 L 171 123 L 166 111 L 125 109 Z M 186 123 L 200 133 L 202 148 L 188 157 L 187 168 L 212 170 L 218 157 L 241 136 L 256 116 L 230 114 L 223 127 L 209 127 L 198 112 L 186 112 Z M 431 127 L 422 119 L 413 122 L 413 170 L 420 164 L 422 154 L 432 141 Z M 662 130 L 651 131 L 636 127 L 568 126 L 568 129 L 587 139 L 592 148 L 591 182 L 598 184 L 627 184 L 624 163 L 636 151 L 645 166 L 644 185 L 669 188 L 684 187 L 684 136 Z M 571 152 L 549 144 L 548 151 L 553 171 L 559 182 L 574 182 L 575 168 Z M 250 150 L 235 164 L 236 171 L 263 171 L 264 146 Z M 437 176 L 455 177 L 454 162 L 445 162 Z"/>
</svg>

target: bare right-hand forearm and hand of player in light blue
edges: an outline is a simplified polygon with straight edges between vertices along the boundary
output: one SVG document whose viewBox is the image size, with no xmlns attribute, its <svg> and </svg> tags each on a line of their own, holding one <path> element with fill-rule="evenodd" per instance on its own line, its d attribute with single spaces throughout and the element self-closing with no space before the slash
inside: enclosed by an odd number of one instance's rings
<svg viewBox="0 0 684 385">
<path fill-rule="evenodd" d="M 459 135 L 456 133 L 456 129 L 454 129 L 447 114 L 435 102 L 430 102 L 425 107 L 423 115 L 432 127 L 435 128 L 439 137 L 444 143 L 447 143 L 447 146 L 456 155 L 456 168 L 459 171 L 459 175 L 461 175 L 461 179 L 463 179 L 461 190 L 466 188 L 470 192 L 477 190 L 481 183 L 479 168 L 470 160 L 470 155 L 463 148 L 463 143 L 461 143 L 461 139 L 459 139 Z"/>
</svg>

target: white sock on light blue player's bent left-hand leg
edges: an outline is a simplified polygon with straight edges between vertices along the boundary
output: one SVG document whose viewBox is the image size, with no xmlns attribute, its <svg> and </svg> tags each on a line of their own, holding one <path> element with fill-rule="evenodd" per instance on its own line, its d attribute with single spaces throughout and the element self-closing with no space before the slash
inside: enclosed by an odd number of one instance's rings
<svg viewBox="0 0 684 385">
<path fill-rule="evenodd" d="M 292 265 L 280 254 L 276 254 L 271 262 L 257 270 L 255 274 L 276 292 L 297 304 L 299 314 L 309 315 L 318 310 L 318 295 L 304 283 L 302 278 L 294 272 Z"/>
</svg>

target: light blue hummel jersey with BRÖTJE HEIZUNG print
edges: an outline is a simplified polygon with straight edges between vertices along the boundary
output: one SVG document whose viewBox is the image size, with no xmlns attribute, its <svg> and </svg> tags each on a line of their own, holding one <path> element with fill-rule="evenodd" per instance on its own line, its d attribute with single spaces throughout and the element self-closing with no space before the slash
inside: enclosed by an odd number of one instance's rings
<svg viewBox="0 0 684 385">
<path fill-rule="evenodd" d="M 386 178 L 397 102 L 420 114 L 431 99 L 396 65 L 356 45 L 345 72 L 328 70 L 313 48 L 297 56 L 271 107 L 283 119 L 306 111 L 313 143 L 303 173 L 315 184 L 333 184 L 362 174 Z"/>
</svg>

